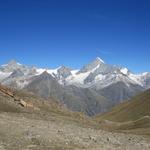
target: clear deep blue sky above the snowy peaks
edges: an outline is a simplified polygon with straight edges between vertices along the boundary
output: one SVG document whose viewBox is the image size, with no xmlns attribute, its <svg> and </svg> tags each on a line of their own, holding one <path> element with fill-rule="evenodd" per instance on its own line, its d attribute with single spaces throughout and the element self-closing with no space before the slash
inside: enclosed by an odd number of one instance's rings
<svg viewBox="0 0 150 150">
<path fill-rule="evenodd" d="M 149 0 L 1 0 L 0 64 L 150 71 Z"/>
</svg>

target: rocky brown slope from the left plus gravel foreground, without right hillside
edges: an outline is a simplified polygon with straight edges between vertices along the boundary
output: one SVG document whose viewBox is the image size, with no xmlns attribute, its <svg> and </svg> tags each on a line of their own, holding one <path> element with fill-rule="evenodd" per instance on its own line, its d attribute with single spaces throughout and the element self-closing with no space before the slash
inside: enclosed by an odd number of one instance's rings
<svg viewBox="0 0 150 150">
<path fill-rule="evenodd" d="M 108 132 L 94 120 L 22 91 L 0 88 L 0 150 L 149 150 L 150 139 Z M 39 109 L 20 105 L 14 99 Z"/>
</svg>

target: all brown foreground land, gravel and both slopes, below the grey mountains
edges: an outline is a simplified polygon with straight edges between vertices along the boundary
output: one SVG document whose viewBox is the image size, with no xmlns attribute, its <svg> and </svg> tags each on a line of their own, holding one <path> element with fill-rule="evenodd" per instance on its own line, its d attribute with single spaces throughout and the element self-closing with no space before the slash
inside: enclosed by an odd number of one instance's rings
<svg viewBox="0 0 150 150">
<path fill-rule="evenodd" d="M 0 149 L 149 150 L 149 98 L 147 91 L 102 116 L 88 117 L 53 98 L 0 85 Z"/>
</svg>

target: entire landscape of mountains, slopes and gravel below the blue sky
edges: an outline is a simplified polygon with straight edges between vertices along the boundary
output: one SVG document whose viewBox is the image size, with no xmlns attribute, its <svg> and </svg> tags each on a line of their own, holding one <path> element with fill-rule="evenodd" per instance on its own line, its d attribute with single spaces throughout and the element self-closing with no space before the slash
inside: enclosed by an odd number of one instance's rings
<svg viewBox="0 0 150 150">
<path fill-rule="evenodd" d="M 149 73 L 100 58 L 78 71 L 0 71 L 0 150 L 150 149 Z"/>
</svg>

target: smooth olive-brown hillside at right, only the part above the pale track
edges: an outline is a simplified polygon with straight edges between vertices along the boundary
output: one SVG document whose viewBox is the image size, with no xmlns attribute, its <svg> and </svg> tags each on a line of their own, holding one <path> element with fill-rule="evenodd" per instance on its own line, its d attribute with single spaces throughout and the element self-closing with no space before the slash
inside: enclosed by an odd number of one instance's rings
<svg viewBox="0 0 150 150">
<path fill-rule="evenodd" d="M 125 122 L 135 121 L 144 116 L 150 116 L 150 90 L 114 107 L 112 111 L 97 116 L 97 118 Z"/>
</svg>

